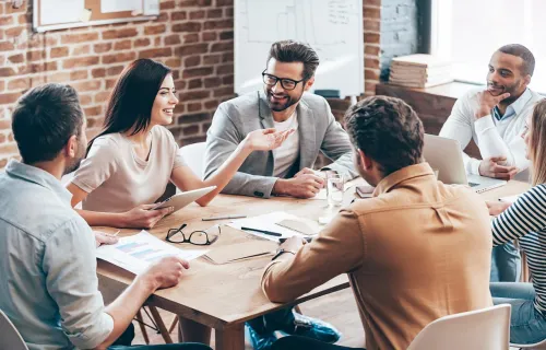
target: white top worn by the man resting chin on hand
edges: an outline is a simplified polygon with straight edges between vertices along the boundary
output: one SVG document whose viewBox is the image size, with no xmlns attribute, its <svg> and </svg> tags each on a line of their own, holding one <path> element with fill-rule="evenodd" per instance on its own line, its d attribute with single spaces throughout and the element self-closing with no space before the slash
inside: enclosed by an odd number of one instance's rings
<svg viewBox="0 0 546 350">
<path fill-rule="evenodd" d="M 472 138 L 483 159 L 506 156 L 506 165 L 517 166 L 520 172 L 526 170 L 530 163 L 525 158 L 525 142 L 521 135 L 527 115 L 533 112 L 535 103 L 544 97 L 527 89 L 508 106 L 502 119 L 497 120 L 490 114 L 476 119 L 474 114 L 479 108 L 477 93 L 483 89 L 473 90 L 455 102 L 440 136 L 458 140 L 462 150 Z M 468 174 L 479 175 L 479 160 L 465 153 L 463 160 Z"/>
</svg>

